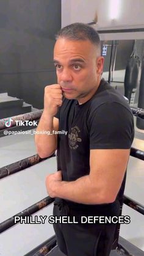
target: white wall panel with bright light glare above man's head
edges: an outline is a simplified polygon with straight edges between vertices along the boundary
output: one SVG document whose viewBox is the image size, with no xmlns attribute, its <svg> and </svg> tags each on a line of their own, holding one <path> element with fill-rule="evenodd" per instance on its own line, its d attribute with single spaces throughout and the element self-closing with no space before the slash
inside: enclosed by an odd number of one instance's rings
<svg viewBox="0 0 144 256">
<path fill-rule="evenodd" d="M 143 0 L 62 0 L 62 26 L 90 23 L 98 13 L 98 27 L 143 27 Z"/>
</svg>

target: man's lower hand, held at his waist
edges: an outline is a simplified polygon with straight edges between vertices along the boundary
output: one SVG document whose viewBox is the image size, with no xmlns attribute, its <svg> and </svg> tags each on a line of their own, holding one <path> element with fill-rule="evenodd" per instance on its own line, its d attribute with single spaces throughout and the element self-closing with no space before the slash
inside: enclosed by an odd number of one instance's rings
<svg viewBox="0 0 144 256">
<path fill-rule="evenodd" d="M 46 177 L 46 189 L 50 197 L 56 197 L 56 188 L 62 182 L 62 171 L 58 170 L 54 174 Z"/>
</svg>

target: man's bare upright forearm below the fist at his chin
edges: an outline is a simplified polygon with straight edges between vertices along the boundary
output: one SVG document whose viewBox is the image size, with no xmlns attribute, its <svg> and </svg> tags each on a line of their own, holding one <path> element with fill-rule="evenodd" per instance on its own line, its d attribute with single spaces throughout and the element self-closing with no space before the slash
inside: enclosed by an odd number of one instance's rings
<svg viewBox="0 0 144 256">
<path fill-rule="evenodd" d="M 52 155 L 56 150 L 57 139 L 56 135 L 52 134 L 53 130 L 53 117 L 49 117 L 43 112 L 37 126 L 37 133 L 35 134 L 35 145 L 37 147 L 38 155 L 40 155 L 41 158 Z"/>
</svg>

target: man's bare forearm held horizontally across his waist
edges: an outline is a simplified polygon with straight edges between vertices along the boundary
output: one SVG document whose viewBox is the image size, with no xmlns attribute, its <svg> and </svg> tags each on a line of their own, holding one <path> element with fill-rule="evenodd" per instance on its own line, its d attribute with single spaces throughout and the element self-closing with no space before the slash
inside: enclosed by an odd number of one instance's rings
<svg viewBox="0 0 144 256">
<path fill-rule="evenodd" d="M 90 176 L 84 176 L 76 181 L 62 181 L 55 188 L 55 197 L 71 200 L 84 204 L 100 204 L 107 203 L 103 195 L 103 191 L 93 185 Z"/>
</svg>

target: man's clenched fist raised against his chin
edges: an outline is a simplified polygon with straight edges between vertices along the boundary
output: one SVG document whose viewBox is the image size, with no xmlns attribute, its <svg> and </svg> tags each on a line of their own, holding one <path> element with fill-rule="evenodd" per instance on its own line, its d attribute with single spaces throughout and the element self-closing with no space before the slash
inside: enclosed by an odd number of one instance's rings
<svg viewBox="0 0 144 256">
<path fill-rule="evenodd" d="M 62 89 L 59 84 L 45 87 L 44 111 L 47 115 L 54 117 L 58 108 L 62 106 Z"/>
</svg>

